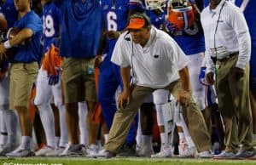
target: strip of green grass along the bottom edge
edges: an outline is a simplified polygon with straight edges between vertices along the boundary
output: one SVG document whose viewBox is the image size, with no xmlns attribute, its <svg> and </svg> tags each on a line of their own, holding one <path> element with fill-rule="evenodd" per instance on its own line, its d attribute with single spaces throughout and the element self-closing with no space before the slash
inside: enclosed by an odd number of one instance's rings
<svg viewBox="0 0 256 165">
<path fill-rule="evenodd" d="M 152 158 L 113 158 L 94 159 L 86 157 L 30 157 L 30 158 L 0 158 L 0 165 L 256 165 L 249 160 L 213 160 L 213 159 L 152 159 Z"/>
</svg>

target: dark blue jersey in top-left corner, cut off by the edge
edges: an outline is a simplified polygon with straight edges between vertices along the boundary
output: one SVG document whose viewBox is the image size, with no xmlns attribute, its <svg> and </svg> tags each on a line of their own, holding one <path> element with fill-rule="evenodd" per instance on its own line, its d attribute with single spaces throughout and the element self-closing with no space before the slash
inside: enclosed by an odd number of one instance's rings
<svg viewBox="0 0 256 165">
<path fill-rule="evenodd" d="M 3 13 L 5 16 L 8 28 L 13 27 L 15 21 L 18 19 L 18 12 L 15 9 L 14 0 L 6 0 L 6 2 L 0 6 L 0 13 Z"/>
</svg>

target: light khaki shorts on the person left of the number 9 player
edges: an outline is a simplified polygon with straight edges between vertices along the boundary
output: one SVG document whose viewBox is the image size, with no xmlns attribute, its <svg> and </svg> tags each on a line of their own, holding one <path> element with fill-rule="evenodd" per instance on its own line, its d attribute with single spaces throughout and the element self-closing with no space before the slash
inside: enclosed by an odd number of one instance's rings
<svg viewBox="0 0 256 165">
<path fill-rule="evenodd" d="M 38 76 L 38 63 L 14 63 L 10 68 L 9 109 L 28 107 L 33 83 Z"/>
</svg>

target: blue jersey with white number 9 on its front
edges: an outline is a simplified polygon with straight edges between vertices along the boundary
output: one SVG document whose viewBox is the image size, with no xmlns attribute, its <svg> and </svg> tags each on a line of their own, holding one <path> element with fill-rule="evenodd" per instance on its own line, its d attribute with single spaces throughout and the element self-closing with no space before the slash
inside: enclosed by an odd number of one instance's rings
<svg viewBox="0 0 256 165">
<path fill-rule="evenodd" d="M 51 43 L 60 37 L 61 10 L 55 6 L 55 3 L 45 3 L 43 8 L 43 39 L 44 53 L 47 52 Z"/>
</svg>

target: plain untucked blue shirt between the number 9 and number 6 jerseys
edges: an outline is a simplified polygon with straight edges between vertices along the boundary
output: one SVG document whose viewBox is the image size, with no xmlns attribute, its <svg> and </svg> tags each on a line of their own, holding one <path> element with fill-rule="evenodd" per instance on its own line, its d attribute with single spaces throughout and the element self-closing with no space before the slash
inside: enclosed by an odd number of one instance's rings
<svg viewBox="0 0 256 165">
<path fill-rule="evenodd" d="M 58 0 L 61 9 L 61 56 L 95 57 L 101 38 L 99 0 Z"/>
</svg>

